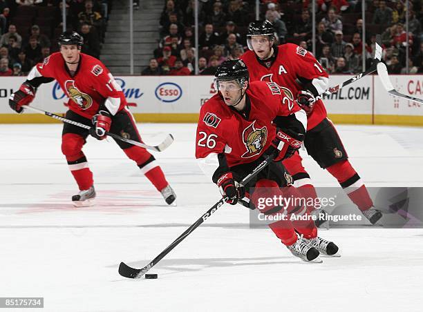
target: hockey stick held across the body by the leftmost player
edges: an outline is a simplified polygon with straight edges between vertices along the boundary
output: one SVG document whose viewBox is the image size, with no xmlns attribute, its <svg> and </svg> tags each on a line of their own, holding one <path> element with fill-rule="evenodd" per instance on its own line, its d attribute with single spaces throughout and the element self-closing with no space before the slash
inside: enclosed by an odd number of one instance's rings
<svg viewBox="0 0 423 312">
<path fill-rule="evenodd" d="M 78 126 L 78 127 L 81 127 L 81 128 L 91 129 L 91 126 L 87 126 L 86 124 L 81 124 L 80 122 L 73 121 L 71 119 L 66 119 L 62 116 L 55 115 L 55 114 L 50 113 L 50 112 L 46 112 L 46 110 L 41 110 L 40 108 L 36 108 L 34 106 L 25 105 L 25 106 L 22 106 L 22 107 L 29 109 L 29 110 L 33 110 L 37 113 L 46 115 L 48 117 L 52 117 L 54 119 L 66 122 L 66 124 L 73 124 L 74 126 Z M 144 144 L 144 143 L 136 142 L 136 141 L 133 141 L 132 139 L 126 139 L 126 137 L 120 137 L 120 135 L 115 135 L 114 133 L 106 132 L 106 135 L 109 135 L 109 137 L 113 137 L 113 139 L 118 139 L 120 141 L 129 143 L 129 144 L 133 144 L 133 145 L 136 145 L 136 146 L 140 146 L 142 148 L 147 148 L 148 150 L 155 150 L 156 152 L 162 152 L 163 150 L 168 148 L 173 142 L 173 136 L 171 134 L 167 135 L 167 137 L 164 139 L 164 141 L 162 143 L 160 143 L 159 145 L 156 145 L 156 146 L 151 146 L 151 145 L 147 145 L 147 144 Z"/>
</svg>

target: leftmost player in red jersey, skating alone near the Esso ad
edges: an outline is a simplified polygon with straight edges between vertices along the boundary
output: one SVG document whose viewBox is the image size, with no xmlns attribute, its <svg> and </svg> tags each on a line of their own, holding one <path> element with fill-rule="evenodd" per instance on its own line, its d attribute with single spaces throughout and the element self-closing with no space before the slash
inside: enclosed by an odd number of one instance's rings
<svg viewBox="0 0 423 312">
<path fill-rule="evenodd" d="M 79 193 L 72 197 L 75 206 L 91 206 L 95 198 L 93 173 L 82 152 L 86 137 L 104 139 L 106 131 L 142 142 L 135 119 L 126 107 L 126 99 L 120 86 L 101 61 L 81 53 L 82 37 L 77 32 L 64 32 L 59 37 L 60 52 L 46 57 L 30 71 L 27 80 L 9 99 L 10 107 L 21 113 L 35 97 L 37 88 L 57 80 L 69 97 L 66 118 L 91 126 L 90 130 L 64 124 L 62 153 L 75 178 Z M 157 188 L 167 204 L 176 195 L 164 177 L 155 158 L 145 148 L 116 141 L 129 159 Z"/>
</svg>

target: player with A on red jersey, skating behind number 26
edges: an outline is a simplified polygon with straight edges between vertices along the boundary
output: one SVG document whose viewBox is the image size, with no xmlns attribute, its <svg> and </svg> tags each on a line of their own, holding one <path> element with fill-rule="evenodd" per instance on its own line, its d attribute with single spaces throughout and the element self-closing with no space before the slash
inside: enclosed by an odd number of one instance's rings
<svg viewBox="0 0 423 312">
<path fill-rule="evenodd" d="M 373 201 L 353 166 L 332 121 L 328 119 L 323 101 L 315 101 L 328 88 L 328 74 L 307 50 L 292 44 L 274 44 L 274 29 L 269 21 L 250 23 L 247 46 L 241 59 L 250 68 L 252 81 L 273 81 L 306 111 L 307 134 L 304 139 L 308 154 L 334 176 L 348 197 L 361 213 L 375 224 L 382 217 L 381 211 L 373 207 Z M 283 160 L 283 165 L 294 179 L 294 185 L 305 196 L 316 198 L 310 175 L 301 164 L 301 156 L 295 153 Z"/>
</svg>

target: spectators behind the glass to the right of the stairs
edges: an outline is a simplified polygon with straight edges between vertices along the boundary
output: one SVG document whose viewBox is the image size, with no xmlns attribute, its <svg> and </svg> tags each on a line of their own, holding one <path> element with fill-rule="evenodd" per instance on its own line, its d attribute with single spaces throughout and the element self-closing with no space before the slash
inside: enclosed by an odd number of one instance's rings
<svg viewBox="0 0 423 312">
<path fill-rule="evenodd" d="M 194 75 L 193 3 L 192 0 L 165 1 L 160 17 L 160 43 L 142 75 Z M 255 20 L 255 1 L 202 0 L 198 4 L 199 73 L 213 75 L 218 64 L 226 59 L 237 59 L 247 50 L 245 35 L 248 24 Z M 296 43 L 311 52 L 311 6 L 310 0 L 261 0 L 260 17 L 273 23 L 276 44 Z M 408 60 L 406 14 L 409 19 Z M 408 13 L 401 0 L 366 1 L 363 53 L 361 1 L 317 0 L 315 56 L 329 73 L 358 73 L 362 71 L 363 57 L 366 66 L 370 66 L 376 34 L 382 34 L 383 61 L 390 73 L 406 73 L 406 61 L 409 73 L 423 72 L 422 19 L 421 0 L 410 0 Z M 179 68 L 181 63 L 182 70 Z"/>
</svg>

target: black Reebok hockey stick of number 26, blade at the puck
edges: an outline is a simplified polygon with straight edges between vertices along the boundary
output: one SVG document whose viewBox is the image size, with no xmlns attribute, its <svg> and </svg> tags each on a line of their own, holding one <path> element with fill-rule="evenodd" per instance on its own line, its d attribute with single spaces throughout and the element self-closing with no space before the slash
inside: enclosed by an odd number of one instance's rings
<svg viewBox="0 0 423 312">
<path fill-rule="evenodd" d="M 266 156 L 265 159 L 263 160 L 263 162 L 261 162 L 258 166 L 256 166 L 256 168 L 254 168 L 254 170 L 252 170 L 252 172 L 249 175 L 244 177 L 244 179 L 240 182 L 240 184 L 245 185 L 248 182 L 250 182 L 253 177 L 255 177 L 261 170 L 263 170 L 267 166 L 267 164 L 269 164 L 272 161 L 272 159 L 273 159 L 272 155 Z M 185 238 L 189 234 L 191 234 L 192 231 L 194 231 L 196 228 L 198 228 L 198 226 L 200 226 L 203 222 L 205 222 L 205 220 L 207 220 L 208 217 L 210 217 L 213 213 L 215 213 L 216 210 L 218 210 L 218 208 L 220 206 L 222 206 L 227 199 L 228 199 L 228 197 L 223 197 L 218 202 L 216 202 L 216 204 L 214 204 L 214 206 L 212 206 L 212 208 L 210 208 L 205 214 L 203 214 L 200 217 L 200 219 L 198 219 L 194 224 L 189 226 L 189 228 L 187 228 L 187 230 L 184 233 L 182 233 L 176 240 L 174 240 L 169 246 L 167 246 L 167 248 L 164 249 L 164 251 L 162 251 L 160 253 L 160 255 L 155 257 L 149 264 L 147 264 L 147 266 L 144 266 L 144 268 L 142 268 L 142 269 L 134 269 L 134 268 L 131 268 L 131 266 L 128 266 L 127 264 L 125 264 L 124 262 L 120 262 L 119 274 L 124 276 L 124 277 L 128 277 L 128 278 L 140 278 L 140 277 L 142 277 L 142 275 L 147 273 L 149 271 L 149 269 L 151 269 L 160 260 L 162 260 L 162 258 L 165 255 L 167 255 L 173 248 L 178 246 L 178 244 L 180 242 L 182 242 L 182 240 L 185 240 Z"/>
</svg>

